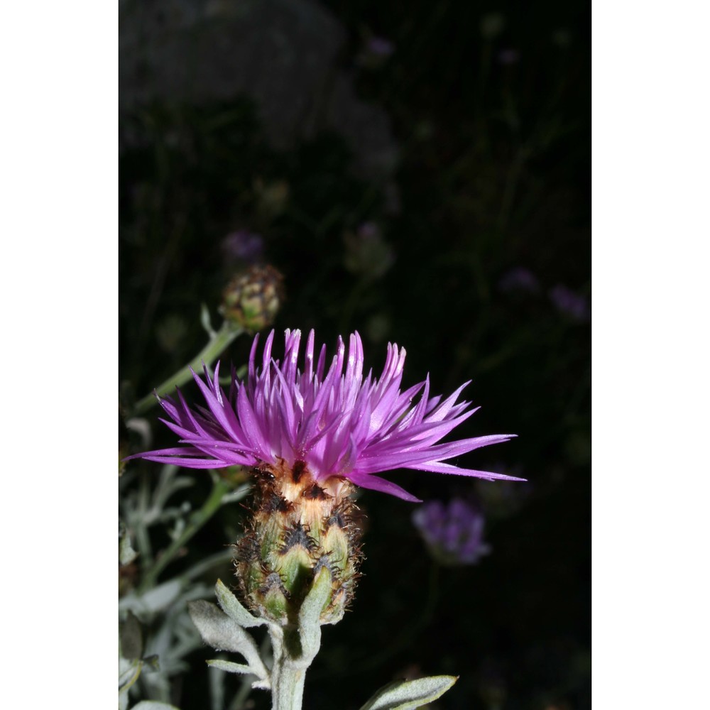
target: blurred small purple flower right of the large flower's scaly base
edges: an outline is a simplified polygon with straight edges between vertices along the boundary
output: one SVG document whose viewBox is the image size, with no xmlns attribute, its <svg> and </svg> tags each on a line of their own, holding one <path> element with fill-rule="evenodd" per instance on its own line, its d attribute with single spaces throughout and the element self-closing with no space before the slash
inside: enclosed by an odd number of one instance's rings
<svg viewBox="0 0 710 710">
<path fill-rule="evenodd" d="M 461 498 L 452 498 L 448 505 L 424 503 L 414 511 L 412 522 L 442 564 L 475 564 L 491 551 L 483 540 L 484 516 Z"/>
</svg>

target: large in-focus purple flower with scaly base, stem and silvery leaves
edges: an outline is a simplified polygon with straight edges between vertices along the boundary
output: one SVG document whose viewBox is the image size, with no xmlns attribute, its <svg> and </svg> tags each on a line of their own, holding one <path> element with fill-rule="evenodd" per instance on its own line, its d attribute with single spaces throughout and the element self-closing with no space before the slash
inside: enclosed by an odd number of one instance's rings
<svg viewBox="0 0 710 710">
<path fill-rule="evenodd" d="M 177 447 L 136 454 L 149 461 L 195 469 L 246 466 L 255 495 L 246 534 L 236 545 L 236 575 L 244 605 L 217 583 L 220 608 L 190 604 L 202 638 L 239 652 L 246 665 L 211 665 L 256 676 L 253 687 L 270 689 L 274 710 L 300 709 L 305 671 L 320 648 L 320 626 L 337 623 L 351 603 L 359 577 L 359 515 L 356 488 L 420 502 L 379 474 L 415 469 L 494 480 L 520 480 L 461 469 L 446 459 L 514 435 L 489 435 L 439 443 L 476 410 L 452 395 L 431 396 L 429 379 L 401 391 L 405 350 L 388 345 L 379 378 L 364 376 L 357 333 L 349 348 L 339 339 L 327 368 L 325 346 L 310 332 L 299 367 L 301 333 L 285 332 L 283 359 L 272 356 L 268 335 L 258 366 L 253 341 L 245 381 L 233 370 L 229 391 L 219 363 L 204 378 L 192 373 L 205 405 L 189 405 L 182 393 L 160 400 L 162 421 L 178 436 Z M 268 670 L 246 628 L 266 625 L 273 646 Z M 402 682 L 381 689 L 363 710 L 417 707 L 445 692 L 448 676 Z"/>
</svg>

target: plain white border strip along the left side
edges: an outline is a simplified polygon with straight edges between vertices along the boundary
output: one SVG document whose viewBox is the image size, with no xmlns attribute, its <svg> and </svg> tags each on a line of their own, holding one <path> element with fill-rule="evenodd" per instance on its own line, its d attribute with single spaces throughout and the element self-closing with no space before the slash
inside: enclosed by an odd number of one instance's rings
<svg viewBox="0 0 710 710">
<path fill-rule="evenodd" d="M 116 706 L 116 17 L 0 23 L 7 707 Z"/>
</svg>

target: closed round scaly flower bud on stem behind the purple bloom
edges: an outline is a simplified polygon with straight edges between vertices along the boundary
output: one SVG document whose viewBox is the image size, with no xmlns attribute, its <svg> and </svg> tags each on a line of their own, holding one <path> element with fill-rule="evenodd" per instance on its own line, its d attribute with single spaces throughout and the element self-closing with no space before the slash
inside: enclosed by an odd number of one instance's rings
<svg viewBox="0 0 710 710">
<path fill-rule="evenodd" d="M 273 266 L 252 266 L 224 290 L 220 312 L 249 332 L 268 327 L 283 302 L 283 275 Z"/>
</svg>

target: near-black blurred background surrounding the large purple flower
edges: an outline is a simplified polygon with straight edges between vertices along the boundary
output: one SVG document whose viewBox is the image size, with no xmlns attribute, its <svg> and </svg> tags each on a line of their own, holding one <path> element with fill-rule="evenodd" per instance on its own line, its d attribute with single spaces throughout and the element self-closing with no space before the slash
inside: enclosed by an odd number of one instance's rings
<svg viewBox="0 0 710 710">
<path fill-rule="evenodd" d="M 469 567 L 432 562 L 412 504 L 361 496 L 364 578 L 351 613 L 324 630 L 306 706 L 356 708 L 394 677 L 439 673 L 460 676 L 442 709 L 589 706 L 590 328 L 550 297 L 559 284 L 589 297 L 589 6 L 262 5 L 273 13 L 121 6 L 124 402 L 199 351 L 200 304 L 216 321 L 239 268 L 222 240 L 260 234 L 285 276 L 277 331 L 315 328 L 332 351 L 357 329 L 376 371 L 397 342 L 405 386 L 430 373 L 432 391 L 448 394 L 470 379 L 466 398 L 481 410 L 457 435 L 519 438 L 456 462 L 528 479 L 391 473 L 425 500 L 484 510 L 492 552 Z M 393 51 L 373 52 L 371 35 Z M 317 78 L 280 87 L 278 52 L 258 55 L 272 36 L 294 77 Z M 362 224 L 380 241 L 354 251 Z M 516 268 L 538 288 L 511 287 Z M 241 364 L 248 350 L 239 339 L 226 359 Z M 171 440 L 157 424 L 153 435 Z M 199 505 L 209 484 L 194 475 L 185 495 Z M 175 566 L 231 542 L 242 514 L 222 509 Z M 207 657 L 195 652 L 190 682 L 176 682 L 183 710 L 202 706 Z"/>
</svg>

